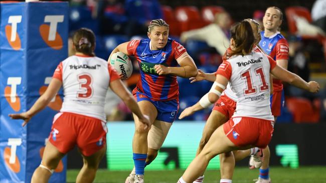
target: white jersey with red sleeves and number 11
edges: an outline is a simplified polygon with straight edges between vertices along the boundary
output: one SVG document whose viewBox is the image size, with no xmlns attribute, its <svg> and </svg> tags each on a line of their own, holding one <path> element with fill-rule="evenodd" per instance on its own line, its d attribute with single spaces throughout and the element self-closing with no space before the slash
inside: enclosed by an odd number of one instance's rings
<svg viewBox="0 0 326 183">
<path fill-rule="evenodd" d="M 269 72 L 276 62 L 262 52 L 234 55 L 224 61 L 217 70 L 229 79 L 237 96 L 235 116 L 274 120 L 270 109 Z"/>
</svg>

